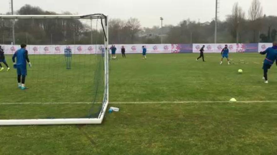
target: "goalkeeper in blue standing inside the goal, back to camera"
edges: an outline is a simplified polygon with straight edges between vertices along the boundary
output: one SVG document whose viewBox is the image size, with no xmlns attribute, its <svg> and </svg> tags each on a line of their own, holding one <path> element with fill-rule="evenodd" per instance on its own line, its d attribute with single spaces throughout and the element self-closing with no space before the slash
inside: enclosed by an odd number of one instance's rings
<svg viewBox="0 0 277 155">
<path fill-rule="evenodd" d="M 25 90 L 25 78 L 27 75 L 27 63 L 29 67 L 32 67 L 31 62 L 28 58 L 28 51 L 26 50 L 26 44 L 20 45 L 21 49 L 17 50 L 13 55 L 14 68 L 17 70 L 17 82 L 18 88 Z M 16 63 L 15 63 L 16 58 Z"/>
</svg>

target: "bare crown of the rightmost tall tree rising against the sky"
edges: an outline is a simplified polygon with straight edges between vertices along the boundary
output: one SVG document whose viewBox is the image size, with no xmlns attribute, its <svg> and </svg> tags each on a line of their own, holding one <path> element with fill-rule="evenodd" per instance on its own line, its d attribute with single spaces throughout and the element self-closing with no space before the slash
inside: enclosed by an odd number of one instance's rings
<svg viewBox="0 0 277 155">
<path fill-rule="evenodd" d="M 248 10 L 249 19 L 254 21 L 263 16 L 263 7 L 259 0 L 253 0 Z"/>
</svg>

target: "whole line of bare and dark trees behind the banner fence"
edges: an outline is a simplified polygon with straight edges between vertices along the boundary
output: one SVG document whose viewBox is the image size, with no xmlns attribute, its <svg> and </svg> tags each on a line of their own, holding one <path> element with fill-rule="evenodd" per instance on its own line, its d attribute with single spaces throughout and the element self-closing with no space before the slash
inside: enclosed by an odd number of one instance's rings
<svg viewBox="0 0 277 155">
<path fill-rule="evenodd" d="M 8 13 L 7 13 L 8 14 Z M 25 5 L 17 14 L 57 14 L 39 7 Z M 65 12 L 63 14 L 71 14 Z M 0 44 L 12 41 L 12 20 L 0 20 Z M 94 21 L 95 22 L 95 21 Z M 88 24 L 89 23 L 89 24 Z M 110 19 L 110 44 L 158 44 L 163 43 L 213 43 L 215 21 L 200 23 L 189 19 L 177 26 L 142 28 L 139 19 Z M 91 29 L 89 21 L 76 19 L 19 19 L 15 22 L 16 43 L 28 44 L 103 44 L 103 32 Z M 92 34 L 92 40 L 91 40 Z M 253 0 L 246 13 L 238 3 L 233 5 L 232 14 L 218 21 L 218 43 L 227 42 L 272 42 L 277 39 L 277 16 L 263 15 L 259 0 Z"/>
</svg>

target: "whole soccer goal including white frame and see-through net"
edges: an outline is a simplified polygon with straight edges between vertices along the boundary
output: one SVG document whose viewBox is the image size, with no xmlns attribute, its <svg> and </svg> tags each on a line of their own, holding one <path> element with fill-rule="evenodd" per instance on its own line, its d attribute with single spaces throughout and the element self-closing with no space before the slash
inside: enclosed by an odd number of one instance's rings
<svg viewBox="0 0 277 155">
<path fill-rule="evenodd" d="M 102 123 L 109 102 L 107 16 L 0 15 L 0 23 L 11 68 L 0 72 L 0 126 Z M 32 65 L 26 90 L 12 69 L 22 43 Z"/>
</svg>

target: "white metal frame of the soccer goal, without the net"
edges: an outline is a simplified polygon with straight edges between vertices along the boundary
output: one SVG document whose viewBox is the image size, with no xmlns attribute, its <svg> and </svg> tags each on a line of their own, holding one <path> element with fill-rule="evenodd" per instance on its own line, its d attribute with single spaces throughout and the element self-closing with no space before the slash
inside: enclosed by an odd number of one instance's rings
<svg viewBox="0 0 277 155">
<path fill-rule="evenodd" d="M 76 125 L 76 124 L 101 124 L 109 104 L 109 23 L 108 16 L 97 13 L 89 15 L 0 15 L 0 19 L 100 19 L 105 35 L 105 89 L 102 108 L 97 118 L 64 118 L 64 119 L 11 119 L 0 120 L 0 126 L 22 125 Z M 104 22 L 105 23 L 104 23 Z"/>
</svg>

